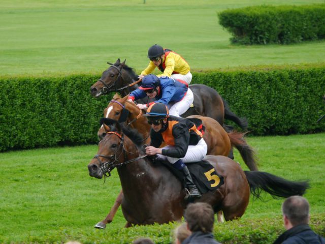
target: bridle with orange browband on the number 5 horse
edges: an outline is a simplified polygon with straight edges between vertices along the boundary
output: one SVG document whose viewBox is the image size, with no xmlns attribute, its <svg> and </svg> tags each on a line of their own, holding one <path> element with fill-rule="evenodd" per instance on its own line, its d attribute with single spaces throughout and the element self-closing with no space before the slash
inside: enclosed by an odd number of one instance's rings
<svg viewBox="0 0 325 244">
<path fill-rule="evenodd" d="M 124 154 L 124 159 L 126 158 L 126 149 L 124 147 L 124 135 L 120 135 L 118 134 L 117 132 L 115 131 L 109 131 L 107 132 L 106 134 L 113 134 L 113 135 L 116 135 L 118 138 L 120 138 L 121 142 L 118 146 L 118 148 L 115 150 L 115 153 L 113 155 L 101 155 L 101 154 L 96 154 L 93 158 L 94 159 L 97 159 L 97 161 L 100 163 L 100 169 L 102 170 L 103 174 L 104 174 L 104 183 L 105 183 L 105 180 L 106 180 L 106 177 L 110 177 L 111 176 L 111 171 L 114 169 L 114 168 L 119 168 L 123 165 L 126 165 L 126 164 L 129 164 L 129 163 L 132 163 L 132 162 L 135 162 L 135 161 L 138 161 L 139 159 L 143 159 L 145 157 L 147 157 L 148 155 L 144 154 L 144 155 L 140 155 L 139 157 L 137 158 L 134 158 L 134 159 L 131 159 L 131 160 L 128 160 L 128 161 L 125 161 L 125 162 L 121 162 L 121 163 L 117 163 L 116 162 L 120 162 L 119 161 L 119 158 L 121 157 L 122 154 Z M 120 148 L 122 148 L 122 151 L 121 153 L 117 156 L 117 153 L 118 151 L 120 150 Z M 131 153 L 131 152 L 128 152 L 128 153 Z M 131 153 L 132 154 L 132 153 Z M 100 157 L 102 158 L 105 158 L 105 159 L 108 159 L 109 162 L 103 162 Z"/>
</svg>

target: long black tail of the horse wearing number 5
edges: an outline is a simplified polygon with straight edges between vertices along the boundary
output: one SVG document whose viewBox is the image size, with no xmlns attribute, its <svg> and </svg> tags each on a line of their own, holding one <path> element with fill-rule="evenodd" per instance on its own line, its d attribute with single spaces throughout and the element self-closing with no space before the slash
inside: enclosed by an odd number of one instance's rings
<svg viewBox="0 0 325 244">
<path fill-rule="evenodd" d="M 262 191 L 270 193 L 273 198 L 302 196 L 309 188 L 308 181 L 290 181 L 274 174 L 261 171 L 244 171 L 250 193 L 259 198 Z"/>
</svg>

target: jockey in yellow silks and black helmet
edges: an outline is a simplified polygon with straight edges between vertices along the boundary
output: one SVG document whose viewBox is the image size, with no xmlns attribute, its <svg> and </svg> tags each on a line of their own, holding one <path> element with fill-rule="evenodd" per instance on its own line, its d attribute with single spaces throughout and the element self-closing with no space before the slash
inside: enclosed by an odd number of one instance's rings
<svg viewBox="0 0 325 244">
<path fill-rule="evenodd" d="M 163 74 L 160 76 L 167 76 L 174 79 L 184 80 L 188 85 L 192 80 L 192 74 L 189 72 L 190 68 L 184 58 L 170 49 L 155 44 L 148 50 L 148 57 L 150 59 L 148 67 L 141 72 L 139 78 L 142 79 L 145 75 L 152 73 L 157 67 Z"/>
</svg>

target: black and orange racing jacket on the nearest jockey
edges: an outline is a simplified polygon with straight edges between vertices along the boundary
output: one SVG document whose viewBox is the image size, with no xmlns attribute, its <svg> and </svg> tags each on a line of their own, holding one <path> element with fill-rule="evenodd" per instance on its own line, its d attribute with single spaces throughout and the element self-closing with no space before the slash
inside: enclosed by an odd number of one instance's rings
<svg viewBox="0 0 325 244">
<path fill-rule="evenodd" d="M 197 145 L 202 138 L 202 133 L 192 121 L 186 118 L 169 116 L 166 125 L 159 132 L 150 131 L 150 145 L 159 147 L 164 141 L 174 148 L 163 149 L 162 154 L 172 158 L 184 158 L 188 145 Z"/>
</svg>

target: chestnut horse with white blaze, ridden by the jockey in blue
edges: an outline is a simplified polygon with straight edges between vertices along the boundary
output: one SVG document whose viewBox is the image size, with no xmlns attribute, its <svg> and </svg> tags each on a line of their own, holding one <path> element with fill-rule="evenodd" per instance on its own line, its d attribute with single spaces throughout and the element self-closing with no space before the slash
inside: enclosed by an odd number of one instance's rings
<svg viewBox="0 0 325 244">
<path fill-rule="evenodd" d="M 104 109 L 104 117 L 117 121 L 121 121 L 120 119 L 122 118 L 121 122 L 125 122 L 127 126 L 137 129 L 137 131 L 143 136 L 145 144 L 150 143 L 149 135 L 151 127 L 148 124 L 147 118 L 142 116 L 142 110 L 134 103 L 127 101 L 127 96 L 120 98 L 118 94 L 115 94 L 107 108 Z M 208 145 L 208 155 L 228 156 L 231 146 L 235 146 L 239 150 L 239 153 L 248 168 L 250 170 L 257 170 L 254 151 L 245 141 L 244 133 L 238 133 L 235 131 L 227 133 L 216 120 L 210 117 L 203 117 L 200 115 L 192 115 L 189 117 L 198 117 L 202 119 L 203 125 L 206 127 L 204 139 Z M 110 128 L 107 125 L 102 124 L 98 131 L 99 138 L 103 139 L 109 131 Z M 121 191 L 108 216 L 96 224 L 95 228 L 104 229 L 106 224 L 113 221 L 115 212 L 121 203 L 122 194 L 123 192 Z"/>
</svg>

